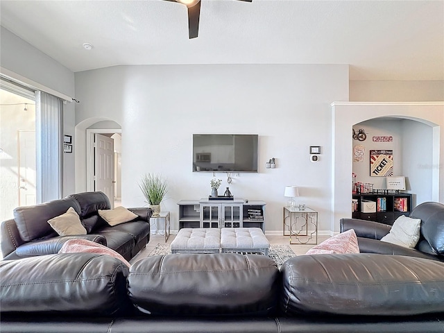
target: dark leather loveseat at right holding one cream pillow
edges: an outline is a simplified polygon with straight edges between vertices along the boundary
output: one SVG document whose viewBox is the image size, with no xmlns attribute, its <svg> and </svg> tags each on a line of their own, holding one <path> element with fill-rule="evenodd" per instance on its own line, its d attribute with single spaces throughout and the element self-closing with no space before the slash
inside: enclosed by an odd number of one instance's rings
<svg viewBox="0 0 444 333">
<path fill-rule="evenodd" d="M 408 255 L 444 262 L 444 205 L 426 202 L 413 208 L 409 217 L 421 220 L 420 239 L 415 248 L 380 241 L 391 225 L 360 219 L 341 219 L 341 232 L 353 229 L 361 253 Z"/>
</svg>

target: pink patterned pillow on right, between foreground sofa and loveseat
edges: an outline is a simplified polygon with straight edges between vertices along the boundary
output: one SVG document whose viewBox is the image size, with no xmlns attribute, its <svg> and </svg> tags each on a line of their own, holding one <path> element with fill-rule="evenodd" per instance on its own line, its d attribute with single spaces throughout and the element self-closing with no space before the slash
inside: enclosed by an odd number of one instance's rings
<svg viewBox="0 0 444 333">
<path fill-rule="evenodd" d="M 355 230 L 350 229 L 342 234 L 336 234 L 336 236 L 314 246 L 305 254 L 320 255 L 323 253 L 359 253 L 358 239 Z"/>
</svg>

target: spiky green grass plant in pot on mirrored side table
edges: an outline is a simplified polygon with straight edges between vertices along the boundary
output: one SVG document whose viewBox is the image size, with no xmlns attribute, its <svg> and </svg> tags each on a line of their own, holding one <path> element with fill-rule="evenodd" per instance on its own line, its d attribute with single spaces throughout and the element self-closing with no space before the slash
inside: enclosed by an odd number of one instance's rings
<svg viewBox="0 0 444 333">
<path fill-rule="evenodd" d="M 139 182 L 139 188 L 146 198 L 146 202 L 153 210 L 153 217 L 160 215 L 160 203 L 167 194 L 167 182 L 158 176 L 151 173 L 145 173 L 142 180 Z"/>
</svg>

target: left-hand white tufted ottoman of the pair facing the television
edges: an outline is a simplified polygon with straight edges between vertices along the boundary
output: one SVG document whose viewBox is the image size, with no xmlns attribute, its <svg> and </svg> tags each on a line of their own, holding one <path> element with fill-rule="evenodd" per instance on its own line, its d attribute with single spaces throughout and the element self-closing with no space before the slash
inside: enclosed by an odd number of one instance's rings
<svg viewBox="0 0 444 333">
<path fill-rule="evenodd" d="M 171 242 L 171 253 L 219 253 L 219 228 L 182 228 Z"/>
</svg>

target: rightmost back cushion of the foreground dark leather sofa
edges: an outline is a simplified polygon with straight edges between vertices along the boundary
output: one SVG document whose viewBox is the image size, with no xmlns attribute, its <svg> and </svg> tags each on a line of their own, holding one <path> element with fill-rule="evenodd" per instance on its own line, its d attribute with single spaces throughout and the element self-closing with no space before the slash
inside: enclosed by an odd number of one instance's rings
<svg viewBox="0 0 444 333">
<path fill-rule="evenodd" d="M 400 255 L 301 255 L 282 265 L 284 314 L 411 316 L 444 311 L 444 262 Z"/>
</svg>

